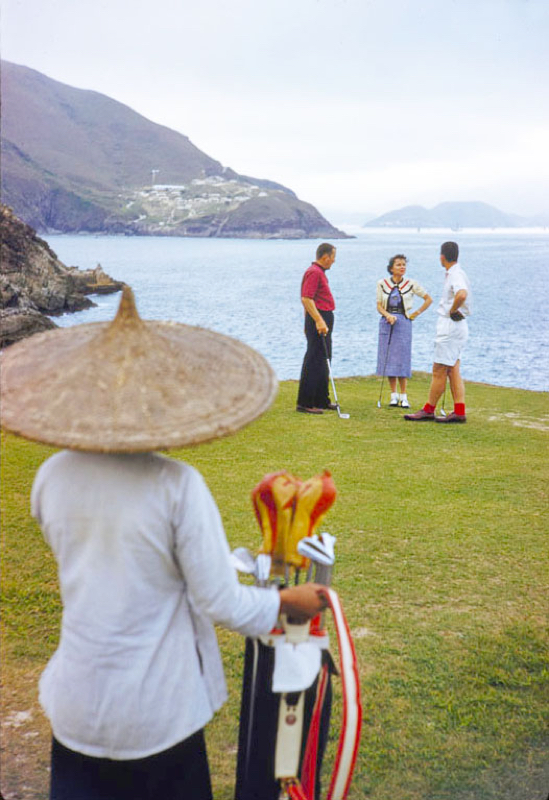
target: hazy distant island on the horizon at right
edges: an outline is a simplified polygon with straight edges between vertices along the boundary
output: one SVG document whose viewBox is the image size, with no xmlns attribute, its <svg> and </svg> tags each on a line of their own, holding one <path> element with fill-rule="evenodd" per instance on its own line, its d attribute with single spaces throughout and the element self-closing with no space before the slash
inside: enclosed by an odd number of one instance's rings
<svg viewBox="0 0 549 800">
<path fill-rule="evenodd" d="M 529 228 L 549 225 L 549 215 L 520 217 L 479 202 L 439 203 L 434 208 L 404 206 L 370 219 L 363 228 Z"/>
</svg>

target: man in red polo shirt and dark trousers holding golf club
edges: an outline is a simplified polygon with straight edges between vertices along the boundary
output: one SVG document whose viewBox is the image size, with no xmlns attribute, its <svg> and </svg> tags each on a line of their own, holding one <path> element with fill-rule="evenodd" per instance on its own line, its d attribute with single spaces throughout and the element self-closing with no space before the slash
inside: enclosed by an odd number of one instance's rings
<svg viewBox="0 0 549 800">
<path fill-rule="evenodd" d="M 305 270 L 301 282 L 307 352 L 301 368 L 296 410 L 304 414 L 322 414 L 326 408 L 336 408 L 328 395 L 328 365 L 322 342 L 324 337 L 331 358 L 335 303 L 326 273 L 335 257 L 336 248 L 333 244 L 319 245 L 316 260 Z"/>
</svg>

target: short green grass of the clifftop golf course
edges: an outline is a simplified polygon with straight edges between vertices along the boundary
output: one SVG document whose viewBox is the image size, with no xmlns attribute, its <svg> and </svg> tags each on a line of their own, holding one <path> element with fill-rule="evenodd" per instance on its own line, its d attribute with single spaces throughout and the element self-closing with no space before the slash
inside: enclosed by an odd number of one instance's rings
<svg viewBox="0 0 549 800">
<path fill-rule="evenodd" d="M 411 381 L 416 406 L 427 385 L 426 375 Z M 378 409 L 375 378 L 338 381 L 349 420 L 296 414 L 296 388 L 282 384 L 273 409 L 236 436 L 172 455 L 205 476 L 231 546 L 252 549 L 258 480 L 331 470 L 338 499 L 324 527 L 338 538 L 334 588 L 355 635 L 364 707 L 350 797 L 500 797 L 488 772 L 497 782 L 510 764 L 541 760 L 549 743 L 547 395 L 468 384 L 467 424 L 442 426 Z M 28 511 L 51 452 L 4 440 L 11 681 L 41 668 L 57 638 L 55 564 Z M 229 701 L 208 741 L 216 800 L 229 800 L 243 643 L 222 630 L 219 639 Z"/>
</svg>

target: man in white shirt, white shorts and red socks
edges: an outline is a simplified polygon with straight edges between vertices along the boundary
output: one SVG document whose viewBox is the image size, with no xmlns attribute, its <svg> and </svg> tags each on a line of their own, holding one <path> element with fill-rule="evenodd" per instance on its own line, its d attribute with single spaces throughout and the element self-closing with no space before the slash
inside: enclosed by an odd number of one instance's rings
<svg viewBox="0 0 549 800">
<path fill-rule="evenodd" d="M 461 354 L 469 338 L 467 317 L 471 313 L 471 285 L 458 264 L 459 248 L 456 242 L 444 242 L 440 248 L 440 263 L 446 270 L 442 298 L 438 304 L 435 336 L 435 357 L 429 397 L 425 405 L 414 414 L 405 414 L 411 422 L 466 422 L 465 385 L 460 373 Z M 435 417 L 446 379 L 454 399 L 454 410 L 447 417 Z"/>
</svg>

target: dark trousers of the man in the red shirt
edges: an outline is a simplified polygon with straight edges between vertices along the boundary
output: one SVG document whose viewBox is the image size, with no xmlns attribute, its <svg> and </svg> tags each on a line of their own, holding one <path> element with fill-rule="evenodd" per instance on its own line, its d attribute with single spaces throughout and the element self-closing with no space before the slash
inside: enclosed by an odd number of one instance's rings
<svg viewBox="0 0 549 800">
<path fill-rule="evenodd" d="M 305 406 L 305 408 L 327 408 L 330 402 L 328 394 L 328 365 L 322 339 L 326 340 L 328 357 L 331 358 L 334 312 L 320 311 L 319 313 L 328 326 L 328 333 L 325 337 L 317 333 L 314 319 L 309 314 L 305 315 L 307 352 L 303 359 L 297 395 L 298 406 Z"/>
</svg>

